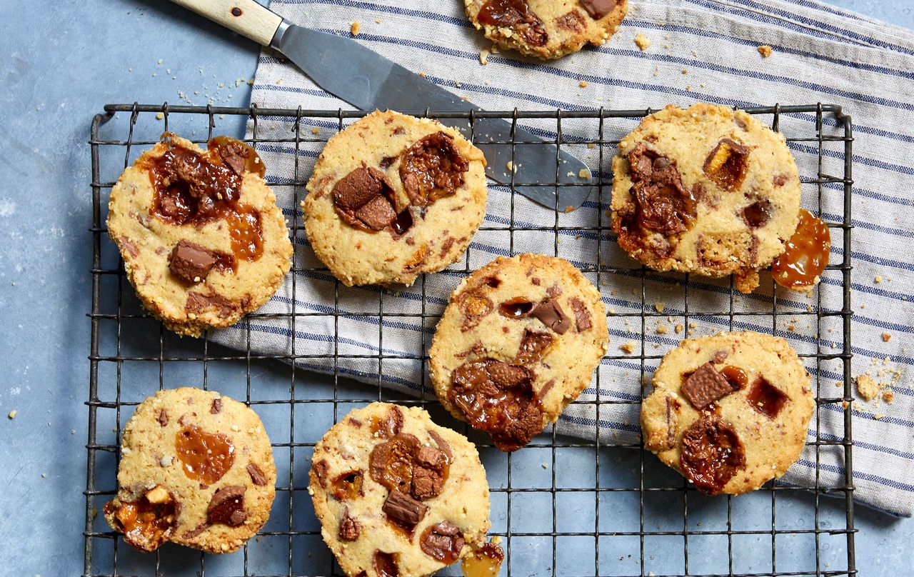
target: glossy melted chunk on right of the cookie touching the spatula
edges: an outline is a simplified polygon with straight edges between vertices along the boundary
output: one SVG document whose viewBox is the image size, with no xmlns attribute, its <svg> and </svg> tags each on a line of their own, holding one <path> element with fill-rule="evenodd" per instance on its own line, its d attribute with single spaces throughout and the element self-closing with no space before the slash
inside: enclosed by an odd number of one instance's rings
<svg viewBox="0 0 914 577">
<path fill-rule="evenodd" d="M 457 150 L 450 134 L 429 134 L 400 155 L 399 176 L 413 206 L 427 207 L 463 186 L 470 163 Z"/>
</svg>

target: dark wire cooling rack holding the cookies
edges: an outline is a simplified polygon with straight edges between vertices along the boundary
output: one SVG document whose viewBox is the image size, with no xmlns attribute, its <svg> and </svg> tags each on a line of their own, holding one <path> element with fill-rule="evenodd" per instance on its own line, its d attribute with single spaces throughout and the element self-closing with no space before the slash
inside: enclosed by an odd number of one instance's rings
<svg viewBox="0 0 914 577">
<path fill-rule="evenodd" d="M 551 226 L 534 228 L 550 239 L 544 247 L 559 252 L 559 234 L 590 234 L 595 238 L 598 264 L 584 272 L 600 286 L 609 304 L 613 347 L 603 359 L 597 376 L 607 374 L 629 379 L 648 388 L 650 372 L 669 347 L 675 346 L 660 334 L 659 327 L 670 321 L 675 338 L 703 334 L 710 328 L 739 328 L 743 321 L 770 326 L 772 333 L 789 335 L 794 324 L 813 327 L 813 338 L 800 349 L 813 374 L 817 410 L 811 423 L 804 458 L 816 465 L 813 491 L 783 483 L 768 483 L 759 491 L 742 497 L 707 497 L 685 480 L 645 453 L 636 433 L 621 438 L 594 432 L 582 440 L 556 433 L 554 427 L 537 436 L 515 454 L 501 454 L 487 439 L 468 431 L 441 411 L 433 395 L 420 399 L 400 395 L 381 386 L 346 379 L 338 370 L 345 354 L 336 346 L 332 355 L 292 354 L 269 356 L 250 346 L 242 350 L 221 347 L 210 336 L 180 339 L 146 315 L 126 282 L 122 262 L 107 239 L 104 222 L 108 194 L 116 177 L 145 148 L 157 141 L 163 130 L 174 130 L 198 143 L 214 134 L 239 133 L 249 126 L 248 142 L 255 146 L 293 146 L 295 170 L 291 177 L 271 178 L 274 189 L 291 190 L 293 207 L 304 196 L 307 178 L 301 176 L 297 153 L 306 145 L 318 146 L 327 130 L 312 126 L 334 126 L 336 130 L 361 116 L 361 112 L 267 110 L 165 105 L 117 104 L 105 107 L 91 124 L 92 163 L 91 235 L 92 308 L 89 441 L 86 476 L 86 576 L 101 575 L 316 575 L 342 574 L 320 537 L 311 499 L 307 494 L 310 453 L 314 443 L 350 409 L 370 401 L 388 400 L 420 404 L 432 411 L 438 422 L 467 433 L 480 449 L 492 491 L 494 535 L 502 537 L 506 558 L 503 575 L 854 575 L 854 503 L 852 480 L 852 434 L 849 411 L 838 411 L 837 434 L 820 434 L 823 419 L 819 409 L 840 407 L 851 400 L 850 391 L 850 236 L 851 236 L 851 121 L 839 107 L 827 104 L 752 109 L 764 123 L 781 130 L 794 152 L 802 152 L 801 167 L 804 206 L 818 210 L 832 230 L 833 247 L 842 255 L 824 272 L 824 283 L 813 294 L 805 310 L 797 310 L 791 294 L 779 292 L 768 276 L 756 295 L 746 297 L 735 291 L 732 280 L 718 283 L 688 275 L 650 272 L 627 260 L 612 237 L 605 203 L 599 201 L 589 224 L 569 229 L 557 213 Z M 475 112 L 433 114 L 436 118 L 501 117 L 512 123 L 533 124 L 541 134 L 550 134 L 559 146 L 590 150 L 597 163 L 596 195 L 609 196 L 611 175 L 607 169 L 622 135 L 644 115 L 652 112 L 596 110 L 589 112 Z M 286 132 L 266 131 L 271 121 L 291 125 Z M 291 123 L 291 124 L 290 124 Z M 569 134 L 569 126 L 575 126 Z M 318 135 L 319 132 L 323 134 Z M 329 131 L 331 134 L 334 130 Z M 583 136 L 582 136 L 583 134 Z M 578 153 L 576 153 L 578 154 Z M 834 166 L 830 163 L 836 162 Z M 492 183 L 490 183 L 491 185 Z M 543 183 L 555 186 L 555 183 Z M 520 200 L 518 199 L 518 202 Z M 507 234 L 514 249 L 515 195 L 511 195 L 510 220 L 506 227 L 487 230 Z M 827 204 L 834 208 L 826 214 Z M 292 234 L 303 239 L 302 219 L 297 209 L 289 210 Z M 523 228 L 531 230 L 530 227 Z M 296 251 L 310 251 L 299 242 Z M 548 246 L 551 245 L 551 246 Z M 471 246 L 462 263 L 451 268 L 455 276 L 471 272 Z M 619 258 L 616 258 L 619 257 Z M 287 283 L 300 283 L 302 274 L 326 273 L 320 266 L 303 264 L 296 258 Z M 311 261 L 314 262 L 314 261 Z M 675 319 L 655 303 L 658 282 L 680 291 Z M 711 305 L 699 302 L 698 294 L 712 286 L 717 291 Z M 379 315 L 413 319 L 421 326 L 434 326 L 440 311 L 425 305 L 426 282 L 417 283 L 421 310 L 409 313 L 385 310 L 385 292 L 377 290 Z M 617 294 L 613 286 L 624 286 Z M 766 288 L 767 287 L 767 288 Z M 340 301 L 346 289 L 335 283 L 331 312 L 294 312 L 281 315 L 295 326 L 304 326 L 317 316 L 335 316 L 339 321 Z M 441 295 L 446 298 L 446 294 Z M 675 300 L 669 299 L 669 300 Z M 749 299 L 749 300 L 747 300 Z M 610 305 L 620 308 L 616 312 Z M 267 317 L 263 313 L 252 317 Z M 800 317 L 799 320 L 797 317 Z M 379 323 L 378 326 L 383 326 Z M 680 330 L 681 329 L 681 330 Z M 826 347 L 820 335 L 833 333 Z M 250 332 L 250 329 L 249 329 Z M 704 334 L 707 334 L 706 331 Z M 682 334 L 680 334 L 682 333 Z M 292 340 L 296 331 L 292 330 Z M 669 333 L 673 336 L 674 333 Z M 618 348 L 622 340 L 638 345 L 634 354 Z M 383 331 L 379 328 L 377 341 Z M 383 363 L 406 358 L 423 363 L 429 345 L 422 332 L 413 354 L 397 359 L 381 352 L 367 356 L 382 372 Z M 664 345 L 664 346 L 661 346 Z M 378 347 L 378 350 L 383 350 Z M 292 351 L 297 351 L 292 347 Z M 356 356 L 357 357 L 357 356 Z M 305 360 L 320 358 L 330 363 L 333 374 L 318 375 L 296 367 Z M 280 362 L 278 362 L 280 361 Z M 610 371 L 607 373 L 606 371 Z M 828 381 L 824 375 L 836 375 Z M 424 375 L 424 373 L 423 373 Z M 837 379 L 843 378 L 843 385 Z M 834 388 L 834 384 L 838 389 Z M 423 376 L 423 384 L 428 385 Z M 826 384 L 828 387 L 826 387 Z M 141 554 L 125 545 L 107 527 L 98 511 L 116 490 L 116 467 L 120 457 L 120 431 L 136 404 L 155 390 L 196 385 L 213 388 L 246 401 L 261 416 L 273 442 L 279 470 L 277 497 L 271 518 L 255 539 L 232 555 L 205 555 L 166 544 L 154 554 Z M 637 422 L 638 395 L 632 399 L 582 395 L 579 403 L 600 411 L 630 411 Z M 833 407 L 834 408 L 834 407 Z M 834 414 L 834 411 L 832 411 Z M 636 430 L 629 422 L 628 429 Z M 634 436 L 632 436 L 634 435 Z M 840 475 L 819 474 L 820 460 L 832 455 L 843 467 Z M 820 498 L 820 497 L 837 498 Z M 288 508 L 288 514 L 286 509 Z M 442 574 L 460 574 L 452 567 Z"/>
</svg>

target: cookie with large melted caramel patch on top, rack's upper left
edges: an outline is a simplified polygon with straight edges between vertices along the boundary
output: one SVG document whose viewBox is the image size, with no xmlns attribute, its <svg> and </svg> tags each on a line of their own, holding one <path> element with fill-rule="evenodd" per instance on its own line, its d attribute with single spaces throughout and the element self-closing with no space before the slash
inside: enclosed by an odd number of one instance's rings
<svg viewBox="0 0 914 577">
<path fill-rule="evenodd" d="M 175 134 L 124 170 L 108 234 L 143 306 L 180 335 L 235 324 L 289 272 L 292 242 L 260 157 L 228 137 Z"/>
</svg>

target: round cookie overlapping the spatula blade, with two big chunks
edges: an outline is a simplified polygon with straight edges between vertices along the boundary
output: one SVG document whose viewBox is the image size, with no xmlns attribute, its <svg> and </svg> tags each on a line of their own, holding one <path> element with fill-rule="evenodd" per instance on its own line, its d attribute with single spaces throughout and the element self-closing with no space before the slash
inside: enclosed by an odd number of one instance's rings
<svg viewBox="0 0 914 577">
<path fill-rule="evenodd" d="M 336 278 L 412 284 L 460 258 L 485 215 L 482 151 L 460 133 L 373 112 L 331 138 L 302 203 L 314 252 Z"/>
</svg>

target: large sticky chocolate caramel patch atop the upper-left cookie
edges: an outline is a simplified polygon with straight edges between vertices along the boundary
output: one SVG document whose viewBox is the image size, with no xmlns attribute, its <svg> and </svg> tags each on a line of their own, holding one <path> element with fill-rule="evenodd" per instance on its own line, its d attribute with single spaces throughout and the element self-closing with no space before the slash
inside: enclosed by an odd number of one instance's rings
<svg viewBox="0 0 914 577">
<path fill-rule="evenodd" d="M 207 145 L 200 154 L 172 143 L 165 154 L 147 161 L 154 189 L 150 213 L 197 228 L 225 220 L 235 260 L 256 261 L 263 253 L 260 211 L 240 201 L 241 182 L 245 171 L 263 176 L 265 166 L 248 144 L 234 138 L 217 136 Z M 220 268 L 227 267 L 221 263 Z"/>
</svg>

